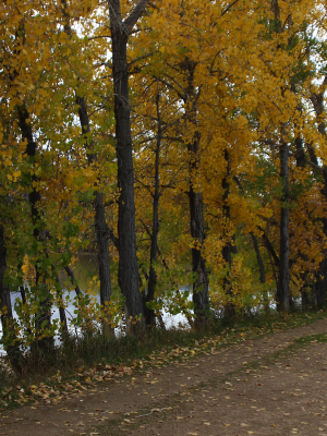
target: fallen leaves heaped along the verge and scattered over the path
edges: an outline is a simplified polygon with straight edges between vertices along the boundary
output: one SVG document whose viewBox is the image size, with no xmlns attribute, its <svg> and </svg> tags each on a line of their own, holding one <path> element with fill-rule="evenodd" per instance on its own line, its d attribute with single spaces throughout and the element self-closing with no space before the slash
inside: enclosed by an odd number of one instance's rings
<svg viewBox="0 0 327 436">
<path fill-rule="evenodd" d="M 276 329 L 277 330 L 277 329 Z M 92 395 L 93 392 L 98 392 L 99 389 L 101 388 L 101 384 L 104 384 L 104 382 L 107 383 L 114 383 L 114 384 L 120 384 L 123 379 L 125 375 L 130 375 L 132 376 L 134 373 L 144 373 L 144 377 L 145 379 L 148 379 L 148 384 L 150 385 L 157 385 L 159 382 L 154 378 L 154 374 L 155 371 L 157 371 L 159 367 L 162 367 L 164 365 L 167 365 L 169 363 L 173 363 L 173 364 L 179 364 L 179 363 L 185 363 L 190 360 L 192 360 L 192 358 L 194 355 L 202 355 L 205 359 L 207 359 L 208 356 L 213 356 L 213 348 L 215 348 L 215 353 L 219 351 L 223 352 L 225 351 L 225 347 L 230 343 L 230 342 L 244 342 L 244 341 L 249 341 L 249 339 L 252 339 L 253 337 L 255 337 L 256 335 L 258 335 L 258 329 L 251 329 L 250 331 L 245 331 L 243 332 L 242 336 L 239 336 L 239 338 L 232 337 L 233 336 L 233 331 L 232 329 L 229 330 L 227 329 L 223 335 L 219 335 L 216 338 L 210 338 L 210 339 L 203 339 L 201 341 L 194 341 L 194 347 L 172 347 L 170 350 L 169 348 L 162 349 L 160 351 L 155 351 L 154 353 L 152 353 L 150 355 L 141 359 L 141 360 L 136 360 L 134 362 L 129 362 L 129 364 L 126 365 L 119 365 L 119 366 L 114 366 L 114 365 L 109 365 L 109 364 L 104 364 L 104 365 L 95 365 L 94 367 L 81 367 L 78 368 L 78 371 L 76 372 L 76 374 L 74 374 L 74 378 L 70 378 L 70 379 L 64 379 L 60 373 L 56 374 L 55 376 L 52 376 L 51 378 L 49 378 L 49 380 L 47 383 L 45 382 L 40 382 L 40 383 L 35 383 L 35 384 L 29 384 L 28 386 L 23 385 L 22 383 L 20 385 L 15 386 L 15 390 L 16 392 L 19 392 L 19 398 L 17 398 L 17 403 L 19 404 L 24 404 L 24 403 L 29 403 L 29 404 L 34 404 L 31 405 L 31 409 L 36 410 L 39 405 L 41 404 L 59 404 L 61 401 L 65 400 L 65 399 L 72 399 L 72 398 L 82 398 L 84 397 L 86 393 Z M 235 336 L 235 335 L 234 335 Z M 231 340 L 232 338 L 232 340 Z M 241 338 L 241 340 L 240 340 Z M 235 340 L 237 339 L 237 340 Z M 239 339 L 239 340 L 238 340 Z M 243 340 L 244 339 L 244 340 Z M 288 342 L 291 343 L 291 342 Z M 315 341 L 311 341 L 311 343 L 315 344 Z M 213 347 L 214 346 L 214 347 Z M 250 349 L 251 351 L 251 349 Z M 214 353 L 214 355 L 215 355 Z M 322 364 L 322 366 L 324 367 L 325 364 Z M 268 368 L 267 366 L 264 366 L 265 368 Z M 284 367 L 289 367 L 288 365 L 284 365 Z M 214 370 L 213 370 L 214 371 Z M 242 370 L 244 372 L 244 370 Z M 247 374 L 253 374 L 253 372 L 251 370 L 245 370 L 245 372 Z M 289 373 L 289 372 L 288 372 Z M 186 373 L 187 375 L 187 373 Z M 184 374 L 181 374 L 181 376 L 184 376 Z M 152 378 L 152 379 L 149 379 Z M 187 377 L 187 379 L 193 379 L 193 377 Z M 130 384 L 131 386 L 133 386 L 134 382 L 135 382 L 135 377 L 129 377 Z M 231 380 L 226 383 L 226 388 L 234 391 L 234 382 L 230 383 Z M 183 385 L 180 385 L 181 387 Z M 10 395 L 10 392 L 13 392 L 14 389 L 11 389 L 7 392 L 7 395 Z M 294 389 L 295 390 L 295 389 Z M 146 393 L 146 392 L 144 392 Z M 241 396 L 243 395 L 242 392 L 238 392 L 238 395 Z M 299 395 L 299 391 L 295 392 L 296 395 Z M 205 396 L 204 396 L 205 397 Z M 215 396 L 217 397 L 217 395 Z M 215 400 L 217 400 L 217 398 L 215 398 Z M 5 401 L 5 399 L 4 399 Z M 83 401 L 83 400 L 80 400 Z M 187 401 L 192 401 L 192 400 L 187 400 Z M 181 401 L 183 403 L 186 403 L 187 401 Z M 207 400 L 205 400 L 207 401 Z M 211 402 L 214 401 L 213 399 L 210 400 Z M 228 399 L 228 401 L 230 401 L 230 399 Z M 244 401 L 244 400 L 243 400 Z M 82 404 L 82 403 L 81 403 Z M 207 404 L 206 407 L 211 407 L 211 404 Z M 71 410 L 64 410 L 65 408 L 62 408 L 62 413 L 64 413 L 65 411 L 69 413 L 71 412 Z M 86 409 L 86 408 L 85 408 Z M 158 408 L 158 409 L 152 409 L 150 413 L 146 413 L 146 414 L 140 414 L 140 412 L 131 412 L 134 414 L 138 414 L 138 416 L 128 416 L 124 417 L 124 423 L 125 425 L 132 425 L 133 422 L 135 422 L 135 419 L 140 419 L 141 421 L 142 417 L 145 416 L 149 416 L 152 414 L 156 413 L 162 413 L 165 410 L 170 410 L 170 408 Z M 264 409 L 262 409 L 262 411 L 264 411 Z M 85 412 L 87 413 L 87 411 L 85 410 Z M 89 416 L 94 415 L 95 420 L 100 420 L 101 417 L 98 417 L 99 413 L 104 414 L 104 415 L 112 415 L 114 413 L 120 414 L 120 412 L 118 411 L 112 411 L 112 410 L 106 410 L 106 408 L 104 409 L 97 409 L 96 410 L 97 413 L 89 413 Z M 208 412 L 208 411 L 205 411 Z M 257 409 L 256 412 L 259 412 L 259 410 Z M 83 412 L 81 412 L 82 414 Z M 263 413 L 263 412 L 261 412 Z M 315 412 L 317 413 L 317 412 Z M 104 415 L 102 415 L 102 420 L 104 420 Z M 106 416 L 106 419 L 107 419 Z M 4 417 L 4 416 L 2 416 Z M 180 419 L 178 421 L 180 422 L 186 422 L 189 420 L 189 415 L 181 415 Z M 106 420 L 105 419 L 105 420 Z M 159 420 L 157 421 L 158 423 L 165 423 L 165 421 Z M 69 422 L 65 423 L 66 425 L 69 425 Z M 214 423 L 215 424 L 215 423 Z M 40 425 L 40 424 L 37 424 Z M 53 423 L 55 425 L 55 423 Z M 84 423 L 80 423 L 80 425 L 85 425 Z M 204 426 L 211 426 L 213 422 L 208 421 L 208 420 L 204 420 Z M 242 423 L 241 427 L 245 427 L 247 426 L 247 423 Z M 270 426 L 275 426 L 276 424 L 272 423 L 270 424 Z M 232 424 L 229 424 L 229 422 L 225 422 L 225 428 L 226 427 L 230 427 L 232 426 Z M 249 427 L 247 427 L 249 428 Z M 252 432 L 252 429 L 247 429 L 246 432 L 247 434 L 251 434 L 250 432 Z M 293 427 L 295 428 L 295 426 Z M 227 428 L 228 429 L 228 428 Z M 244 428 L 245 429 L 245 428 Z M 196 433 L 196 432 L 193 432 Z M 0 433 L 1 434 L 1 433 Z M 189 433 L 189 434 L 192 434 Z M 199 434 L 202 434 L 199 432 Z"/>
</svg>

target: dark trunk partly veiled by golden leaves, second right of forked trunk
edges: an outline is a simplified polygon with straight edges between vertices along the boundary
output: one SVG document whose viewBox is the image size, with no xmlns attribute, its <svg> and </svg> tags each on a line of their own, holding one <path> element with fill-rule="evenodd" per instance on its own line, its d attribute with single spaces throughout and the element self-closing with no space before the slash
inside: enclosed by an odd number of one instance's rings
<svg viewBox="0 0 327 436">
<path fill-rule="evenodd" d="M 209 322 L 209 280 L 206 268 L 205 258 L 202 255 L 202 249 L 205 243 L 205 230 L 204 230 L 204 204 L 202 192 L 194 190 L 194 178 L 198 170 L 201 158 L 199 158 L 199 142 L 201 134 L 197 130 L 196 120 L 196 100 L 197 92 L 194 85 L 194 73 L 196 63 L 185 59 L 182 63 L 183 71 L 186 73 L 187 87 L 185 90 L 184 104 L 187 105 L 186 119 L 194 128 L 193 138 L 187 142 L 187 149 L 190 152 L 190 189 L 189 189 L 189 204 L 190 204 L 190 222 L 191 222 L 191 235 L 194 241 L 192 249 L 192 271 L 196 278 L 193 282 L 193 303 L 195 314 L 195 328 L 202 328 Z"/>
</svg>

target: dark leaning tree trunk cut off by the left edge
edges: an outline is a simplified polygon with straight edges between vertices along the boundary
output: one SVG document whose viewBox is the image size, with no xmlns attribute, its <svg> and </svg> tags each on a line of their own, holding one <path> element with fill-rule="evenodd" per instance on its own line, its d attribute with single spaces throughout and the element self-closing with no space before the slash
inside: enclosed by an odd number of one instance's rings
<svg viewBox="0 0 327 436">
<path fill-rule="evenodd" d="M 0 311 L 2 324 L 2 343 L 12 367 L 17 373 L 22 374 L 24 358 L 20 350 L 20 343 L 14 330 L 10 288 L 4 283 L 4 274 L 7 269 L 5 256 L 7 249 L 4 243 L 4 229 L 3 226 L 0 225 Z"/>
</svg>

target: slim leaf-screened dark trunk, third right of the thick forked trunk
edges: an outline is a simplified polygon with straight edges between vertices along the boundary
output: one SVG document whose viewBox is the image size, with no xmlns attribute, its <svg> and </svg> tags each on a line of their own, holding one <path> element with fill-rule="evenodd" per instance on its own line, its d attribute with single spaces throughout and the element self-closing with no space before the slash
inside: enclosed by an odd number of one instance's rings
<svg viewBox="0 0 327 436">
<path fill-rule="evenodd" d="M 229 197 L 229 191 L 230 191 L 230 182 L 229 182 L 229 175 L 230 175 L 230 158 L 229 158 L 229 153 L 226 149 L 225 150 L 225 160 L 227 162 L 227 169 L 226 169 L 226 175 L 222 179 L 222 189 L 223 189 L 223 196 L 222 196 L 222 216 L 223 216 L 223 223 L 226 227 L 229 226 L 230 223 L 230 206 L 228 205 L 228 197 Z M 228 298 L 228 303 L 225 306 L 225 316 L 227 318 L 232 318 L 235 316 L 235 307 L 230 300 L 232 298 L 232 289 L 231 289 L 231 282 L 230 282 L 230 269 L 232 265 L 232 243 L 230 239 L 225 241 L 225 245 L 222 247 L 222 259 L 225 262 L 225 265 L 227 267 L 227 272 L 226 277 L 223 278 L 223 290 L 226 292 L 226 295 Z"/>
</svg>

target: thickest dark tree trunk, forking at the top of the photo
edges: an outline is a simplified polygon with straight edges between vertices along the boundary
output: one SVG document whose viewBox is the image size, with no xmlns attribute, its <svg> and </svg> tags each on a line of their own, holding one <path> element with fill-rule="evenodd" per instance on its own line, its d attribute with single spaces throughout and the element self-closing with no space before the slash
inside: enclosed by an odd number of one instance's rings
<svg viewBox="0 0 327 436">
<path fill-rule="evenodd" d="M 144 328 L 144 311 L 138 287 L 136 257 L 134 168 L 129 96 L 128 40 L 145 12 L 148 0 L 140 0 L 131 14 L 122 21 L 120 0 L 108 0 L 112 41 L 112 76 L 114 84 L 116 149 L 118 160 L 119 196 L 119 284 L 125 298 L 125 317 L 130 331 Z M 136 322 L 136 319 L 140 319 Z M 132 324 L 130 319 L 133 320 Z"/>
</svg>

